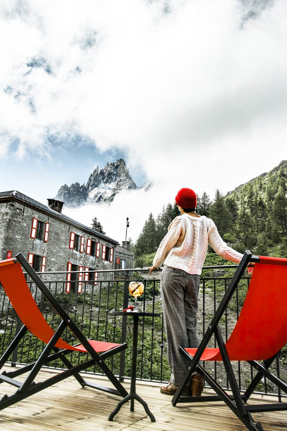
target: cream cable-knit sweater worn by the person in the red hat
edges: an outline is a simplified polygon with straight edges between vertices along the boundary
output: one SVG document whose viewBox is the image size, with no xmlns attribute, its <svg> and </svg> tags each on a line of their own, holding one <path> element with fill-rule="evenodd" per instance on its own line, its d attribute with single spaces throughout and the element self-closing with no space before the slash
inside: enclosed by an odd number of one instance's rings
<svg viewBox="0 0 287 431">
<path fill-rule="evenodd" d="M 208 244 L 224 259 L 235 263 L 241 261 L 243 255 L 227 246 L 211 219 L 205 215 L 179 215 L 170 223 L 168 233 L 154 256 L 153 265 L 158 268 L 164 262 L 188 274 L 200 275 Z"/>
</svg>

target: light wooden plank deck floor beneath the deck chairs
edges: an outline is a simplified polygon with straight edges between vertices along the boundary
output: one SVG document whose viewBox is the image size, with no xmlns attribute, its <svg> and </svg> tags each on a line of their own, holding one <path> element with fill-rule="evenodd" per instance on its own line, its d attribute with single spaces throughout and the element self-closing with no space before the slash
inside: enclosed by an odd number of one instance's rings
<svg viewBox="0 0 287 431">
<path fill-rule="evenodd" d="M 43 379 L 47 375 L 51 376 L 50 372 L 41 372 Z M 130 385 L 127 382 L 124 386 L 128 390 Z M 246 430 L 242 422 L 223 403 L 178 404 L 173 407 L 171 397 L 160 394 L 159 386 L 142 382 L 137 384 L 138 394 L 148 403 L 155 416 L 154 423 L 137 402 L 134 412 L 130 412 L 130 404 L 127 403 L 120 409 L 114 421 L 109 422 L 108 416 L 120 398 L 91 388 L 82 388 L 74 378 L 69 378 L 65 383 L 55 384 L 0 411 L 0 430 Z M 0 388 L 1 396 L 13 392 L 13 388 L 5 383 L 1 384 Z M 253 398 L 252 401 L 260 402 L 261 397 Z M 272 397 L 264 397 L 263 400 L 265 403 L 275 401 Z M 287 411 L 257 413 L 253 418 L 262 423 L 265 431 L 287 430 Z"/>
</svg>

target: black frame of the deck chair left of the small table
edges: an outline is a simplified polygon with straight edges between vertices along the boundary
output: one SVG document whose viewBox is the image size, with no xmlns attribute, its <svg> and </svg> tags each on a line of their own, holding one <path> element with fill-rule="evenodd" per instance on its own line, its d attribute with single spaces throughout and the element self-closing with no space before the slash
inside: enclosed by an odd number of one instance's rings
<svg viewBox="0 0 287 431">
<path fill-rule="evenodd" d="M 40 390 L 46 389 L 52 384 L 59 383 L 65 378 L 71 376 L 74 376 L 74 378 L 79 382 L 82 387 L 92 387 L 94 389 L 105 391 L 109 394 L 126 397 L 127 391 L 117 380 L 113 372 L 111 372 L 111 370 L 105 364 L 104 360 L 126 349 L 127 343 L 120 344 L 101 354 L 96 353 L 93 347 L 89 344 L 86 337 L 80 332 L 79 328 L 77 328 L 72 319 L 62 308 L 61 304 L 56 300 L 52 292 L 50 292 L 50 290 L 46 287 L 45 283 L 41 280 L 39 275 L 34 271 L 34 269 L 25 259 L 23 254 L 18 253 L 15 256 L 14 261 L 21 263 L 22 267 L 28 273 L 31 280 L 37 285 L 41 293 L 43 293 L 43 296 L 46 297 L 47 301 L 55 309 L 62 321 L 60 322 L 52 338 L 49 340 L 49 343 L 46 344 L 46 347 L 43 349 L 37 361 L 25 365 L 22 368 L 15 369 L 11 372 L 3 371 L 2 373 L 0 373 L 0 383 L 6 382 L 12 384 L 17 388 L 14 394 L 10 396 L 3 395 L 3 397 L 0 399 L 0 410 L 5 409 L 12 404 L 17 403 L 18 401 L 21 401 L 29 397 L 30 395 L 36 394 Z M 73 366 L 69 359 L 66 357 L 66 355 L 71 354 L 71 350 L 59 349 L 58 347 L 55 347 L 57 341 L 60 339 L 66 328 L 70 328 L 74 336 L 79 341 L 79 344 L 82 344 L 82 346 L 86 349 L 87 353 L 89 353 L 90 359 L 87 359 L 81 364 Z M 15 347 L 17 347 L 17 345 L 22 340 L 27 331 L 28 328 L 23 325 L 18 334 L 15 335 L 15 338 L 12 340 L 11 344 L 6 349 L 5 353 L 3 353 L 3 356 L 0 358 L 0 370 L 3 368 L 3 365 L 9 359 L 9 356 L 12 354 L 13 350 L 15 349 Z M 51 378 L 46 379 L 45 381 L 35 383 L 34 379 L 39 373 L 41 367 L 56 359 L 61 359 L 67 369 L 65 371 L 59 372 L 57 375 L 54 375 Z M 114 388 L 103 386 L 94 383 L 93 381 L 87 381 L 79 374 L 79 372 L 85 370 L 91 365 L 97 365 L 100 369 L 102 369 L 103 373 L 114 385 Z M 25 378 L 24 382 L 20 382 L 15 379 L 17 376 L 22 375 L 26 372 L 28 372 L 29 374 Z"/>
</svg>

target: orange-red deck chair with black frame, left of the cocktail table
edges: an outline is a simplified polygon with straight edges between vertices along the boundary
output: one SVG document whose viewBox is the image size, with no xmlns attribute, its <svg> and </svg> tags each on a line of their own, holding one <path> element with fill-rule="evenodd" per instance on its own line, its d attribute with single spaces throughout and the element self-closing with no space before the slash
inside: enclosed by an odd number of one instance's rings
<svg viewBox="0 0 287 431">
<path fill-rule="evenodd" d="M 34 281 L 34 283 L 43 293 L 44 297 L 46 297 L 47 301 L 59 314 L 60 324 L 56 331 L 53 331 L 53 329 L 46 322 L 36 302 L 34 301 L 22 272 L 21 265 L 25 269 L 25 272 L 28 273 L 31 280 Z M 0 283 L 3 286 L 3 289 L 5 290 L 12 306 L 14 307 L 15 312 L 18 314 L 23 323 L 21 330 L 18 332 L 18 334 L 16 334 L 14 340 L 0 358 L 0 370 L 27 331 L 30 331 L 31 334 L 34 334 L 35 337 L 39 338 L 39 340 L 46 344 L 43 352 L 40 354 L 36 362 L 26 365 L 21 369 L 15 369 L 11 372 L 3 371 L 0 373 L 0 383 L 6 382 L 16 387 L 14 394 L 10 396 L 4 395 L 0 399 L 0 410 L 11 406 L 12 404 L 17 403 L 18 401 L 21 401 L 24 398 L 27 398 L 30 395 L 33 395 L 40 390 L 43 390 L 46 387 L 58 383 L 59 381 L 62 381 L 70 376 L 74 376 L 82 387 L 89 386 L 95 389 L 103 390 L 110 394 L 118 395 L 120 397 L 127 396 L 127 391 L 104 362 L 104 359 L 126 349 L 126 343 L 116 344 L 103 341 L 87 340 L 50 292 L 50 290 L 37 275 L 37 273 L 34 271 L 34 269 L 31 267 L 31 265 L 28 263 L 28 261 L 25 259 L 25 257 L 22 255 L 22 253 L 17 254 L 14 259 L 7 259 L 0 262 Z M 71 346 L 62 340 L 61 335 L 66 328 L 69 328 L 72 331 L 77 340 L 79 340 L 80 344 Z M 71 354 L 72 351 L 86 352 L 89 354 L 88 358 L 90 359 L 87 359 L 81 364 L 73 366 L 66 357 L 66 355 L 69 353 Z M 103 353 L 99 354 L 99 352 Z M 35 383 L 34 379 L 36 378 L 41 367 L 48 362 L 54 361 L 55 359 L 61 359 L 67 369 L 65 371 L 59 372 L 57 375 L 54 375 L 51 378 L 46 379 L 45 381 Z M 114 385 L 114 388 L 84 380 L 79 372 L 91 365 L 98 365 Z M 26 372 L 29 372 L 29 374 L 25 378 L 24 382 L 19 382 L 15 379 L 15 377 L 18 375 L 22 375 Z"/>
</svg>

